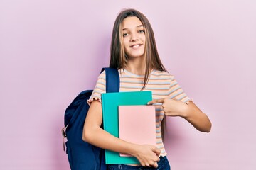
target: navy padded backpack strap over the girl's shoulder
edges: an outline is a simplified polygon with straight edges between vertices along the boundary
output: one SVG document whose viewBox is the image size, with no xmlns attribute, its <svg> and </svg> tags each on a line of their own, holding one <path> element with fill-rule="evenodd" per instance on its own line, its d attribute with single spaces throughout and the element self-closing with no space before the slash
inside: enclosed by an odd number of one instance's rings
<svg viewBox="0 0 256 170">
<path fill-rule="evenodd" d="M 118 70 L 110 67 L 105 67 L 102 68 L 101 72 L 103 72 L 104 70 L 106 72 L 106 92 L 119 92 L 120 79 Z"/>
</svg>

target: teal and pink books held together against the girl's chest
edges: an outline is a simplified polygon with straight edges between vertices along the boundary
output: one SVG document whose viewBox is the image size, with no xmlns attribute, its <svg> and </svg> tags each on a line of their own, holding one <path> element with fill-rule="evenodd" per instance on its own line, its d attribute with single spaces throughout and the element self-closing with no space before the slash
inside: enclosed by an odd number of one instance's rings
<svg viewBox="0 0 256 170">
<path fill-rule="evenodd" d="M 139 145 L 156 145 L 156 115 L 151 91 L 102 94 L 103 128 L 115 137 Z M 139 164 L 131 155 L 105 150 L 106 164 Z"/>
</svg>

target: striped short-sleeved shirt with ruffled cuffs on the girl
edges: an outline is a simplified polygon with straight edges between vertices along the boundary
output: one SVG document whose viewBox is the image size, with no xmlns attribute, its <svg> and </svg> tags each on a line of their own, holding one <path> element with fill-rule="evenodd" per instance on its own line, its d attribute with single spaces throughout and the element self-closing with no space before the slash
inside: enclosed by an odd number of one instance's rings
<svg viewBox="0 0 256 170">
<path fill-rule="evenodd" d="M 126 69 L 119 69 L 120 92 L 123 91 L 141 91 L 144 85 L 144 76 L 133 74 Z M 168 72 L 153 70 L 150 72 L 149 81 L 143 91 L 152 91 L 152 98 L 171 98 L 187 103 L 191 99 L 186 96 L 181 86 L 178 85 L 174 76 Z M 102 72 L 97 79 L 97 84 L 92 92 L 92 96 L 87 101 L 91 103 L 93 100 L 101 102 L 101 94 L 106 93 L 105 72 Z M 161 149 L 161 156 L 166 156 L 164 143 L 161 134 L 161 122 L 164 118 L 164 111 L 161 103 L 154 104 L 156 107 L 156 147 Z"/>
</svg>

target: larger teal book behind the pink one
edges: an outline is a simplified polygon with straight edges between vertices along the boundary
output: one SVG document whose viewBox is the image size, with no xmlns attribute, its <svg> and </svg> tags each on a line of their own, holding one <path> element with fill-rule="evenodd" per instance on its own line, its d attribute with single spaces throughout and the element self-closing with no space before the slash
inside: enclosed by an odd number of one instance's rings
<svg viewBox="0 0 256 170">
<path fill-rule="evenodd" d="M 119 137 L 118 106 L 146 105 L 152 100 L 151 91 L 131 91 L 102 94 L 103 128 Z M 135 157 L 121 157 L 120 153 L 105 150 L 106 164 L 139 164 Z"/>
</svg>

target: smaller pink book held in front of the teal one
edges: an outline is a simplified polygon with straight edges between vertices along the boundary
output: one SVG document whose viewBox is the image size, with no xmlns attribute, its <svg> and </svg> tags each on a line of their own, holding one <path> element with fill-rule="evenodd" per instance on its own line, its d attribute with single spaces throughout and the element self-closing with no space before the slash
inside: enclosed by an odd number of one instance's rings
<svg viewBox="0 0 256 170">
<path fill-rule="evenodd" d="M 156 146 L 154 106 L 119 106 L 119 138 L 139 145 Z M 120 153 L 121 157 L 132 157 Z"/>
</svg>

